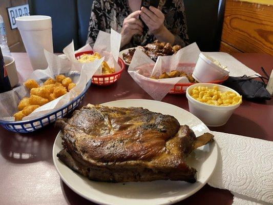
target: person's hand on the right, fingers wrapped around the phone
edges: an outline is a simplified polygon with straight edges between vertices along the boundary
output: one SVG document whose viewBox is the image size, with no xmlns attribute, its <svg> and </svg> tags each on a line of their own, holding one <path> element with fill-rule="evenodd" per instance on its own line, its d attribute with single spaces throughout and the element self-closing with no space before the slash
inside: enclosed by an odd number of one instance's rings
<svg viewBox="0 0 273 205">
<path fill-rule="evenodd" d="M 152 34 L 158 34 L 164 29 L 165 16 L 159 9 L 153 6 L 149 9 L 141 7 L 140 16 Z"/>
</svg>

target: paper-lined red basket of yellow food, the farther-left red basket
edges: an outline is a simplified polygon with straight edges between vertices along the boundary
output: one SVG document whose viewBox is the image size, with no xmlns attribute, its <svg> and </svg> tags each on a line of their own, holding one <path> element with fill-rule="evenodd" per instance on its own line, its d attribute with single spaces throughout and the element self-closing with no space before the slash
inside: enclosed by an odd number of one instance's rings
<svg viewBox="0 0 273 205">
<path fill-rule="evenodd" d="M 115 83 L 125 69 L 124 61 L 118 57 L 120 39 L 121 35 L 114 30 L 111 30 L 111 34 L 99 31 L 93 48 L 86 45 L 75 51 L 73 44 L 70 44 L 64 49 L 64 56 L 78 65 L 103 59 L 92 76 L 92 84 L 108 86 Z"/>
</svg>

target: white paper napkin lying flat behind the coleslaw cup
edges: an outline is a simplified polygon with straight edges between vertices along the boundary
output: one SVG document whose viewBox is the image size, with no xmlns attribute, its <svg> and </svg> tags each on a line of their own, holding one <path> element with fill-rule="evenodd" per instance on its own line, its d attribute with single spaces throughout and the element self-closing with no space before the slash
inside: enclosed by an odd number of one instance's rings
<svg viewBox="0 0 273 205">
<path fill-rule="evenodd" d="M 227 70 L 230 71 L 229 76 L 240 77 L 243 75 L 251 76 L 251 75 L 259 75 L 254 70 L 251 70 L 244 64 L 242 64 L 239 60 L 229 55 L 228 53 L 223 52 L 203 52 L 204 54 L 218 60 L 222 66 L 227 66 Z"/>
</svg>

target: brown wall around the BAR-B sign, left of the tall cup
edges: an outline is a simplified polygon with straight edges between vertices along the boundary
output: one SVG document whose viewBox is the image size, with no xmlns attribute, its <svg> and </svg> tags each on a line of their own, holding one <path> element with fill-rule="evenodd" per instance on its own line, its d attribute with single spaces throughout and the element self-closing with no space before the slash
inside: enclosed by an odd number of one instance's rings
<svg viewBox="0 0 273 205">
<path fill-rule="evenodd" d="M 19 6 L 28 4 L 28 0 L 1 0 L 0 14 L 4 19 L 4 24 L 7 32 L 8 46 L 11 52 L 26 52 L 24 44 L 18 29 L 11 30 L 7 7 Z"/>
</svg>

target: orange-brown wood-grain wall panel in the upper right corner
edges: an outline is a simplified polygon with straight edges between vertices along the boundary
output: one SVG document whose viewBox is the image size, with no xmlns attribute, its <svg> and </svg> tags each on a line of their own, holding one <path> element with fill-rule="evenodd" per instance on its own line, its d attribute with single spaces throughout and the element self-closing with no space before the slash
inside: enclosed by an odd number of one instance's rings
<svg viewBox="0 0 273 205">
<path fill-rule="evenodd" d="M 273 5 L 227 0 L 221 40 L 241 52 L 273 55 Z"/>
</svg>

